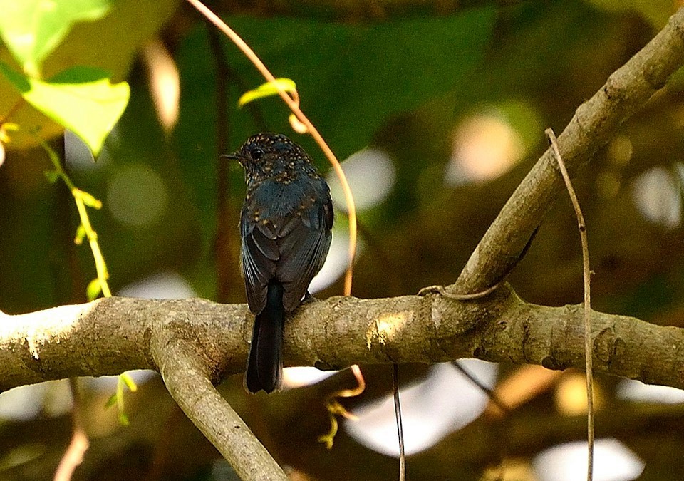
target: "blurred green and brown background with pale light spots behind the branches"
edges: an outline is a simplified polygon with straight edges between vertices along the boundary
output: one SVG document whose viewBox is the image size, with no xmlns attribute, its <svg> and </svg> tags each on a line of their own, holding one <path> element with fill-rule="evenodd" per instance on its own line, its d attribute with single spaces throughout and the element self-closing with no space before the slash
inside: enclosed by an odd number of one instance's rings
<svg viewBox="0 0 684 481">
<path fill-rule="evenodd" d="M 610 73 L 661 29 L 673 0 L 214 1 L 276 76 L 296 81 L 301 107 L 343 163 L 358 202 L 361 247 L 353 294 L 413 294 L 450 284 L 507 197 Z M 6 55 L 6 52 L 2 55 Z M 114 1 L 76 25 L 46 61 L 99 66 L 131 98 L 96 161 L 71 133 L 43 123 L 76 185 L 103 200 L 91 217 L 115 294 L 244 302 L 237 222 L 242 170 L 219 160 L 247 136 L 294 133 L 278 98 L 237 108 L 263 80 L 182 1 Z M 0 83 L 0 98 L 10 95 Z M 0 99 L 0 116 L 11 105 Z M 26 115 L 26 117 L 23 117 Z M 33 117 L 31 117 L 33 115 Z M 36 120 L 37 119 L 37 120 Z M 17 120 L 19 122 L 19 120 Z M 28 122 L 29 120 L 24 120 Z M 593 306 L 684 327 L 684 73 L 678 72 L 580 172 Z M 0 309 L 83 302 L 95 277 L 73 245 L 76 208 L 30 138 L 0 165 Z M 341 294 L 347 224 L 338 182 L 334 243 L 314 281 Z M 509 278 L 527 301 L 582 299 L 581 249 L 564 192 Z M 576 480 L 586 471 L 584 375 L 537 366 L 402 366 L 412 480 Z M 398 472 L 389 366 L 362 366 L 368 388 L 343 400 L 332 450 L 326 395 L 348 372 L 287 371 L 293 387 L 248 396 L 242 376 L 220 389 L 294 479 L 387 480 Z M 328 376 L 328 377 L 326 377 Z M 105 408 L 115 379 L 82 380 L 91 447 L 75 479 L 230 480 L 235 475 L 154 373 L 135 373 L 130 425 Z M 324 378 L 324 379 L 323 379 Z M 294 386 L 302 386 L 294 388 Z M 596 480 L 684 478 L 684 393 L 596 376 Z M 0 479 L 53 475 L 71 436 L 66 381 L 0 395 Z"/>
</svg>

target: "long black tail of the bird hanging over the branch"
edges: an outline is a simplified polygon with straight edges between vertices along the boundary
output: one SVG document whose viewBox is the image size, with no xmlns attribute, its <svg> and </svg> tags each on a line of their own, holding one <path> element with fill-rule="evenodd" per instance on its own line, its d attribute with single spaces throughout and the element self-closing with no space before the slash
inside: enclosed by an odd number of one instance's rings
<svg viewBox="0 0 684 481">
<path fill-rule="evenodd" d="M 283 374 L 283 285 L 279 281 L 271 281 L 268 289 L 266 307 L 254 321 L 252 345 L 249 346 L 247 371 L 244 373 L 244 386 L 250 393 L 261 389 L 271 393 L 279 389 Z"/>
</svg>

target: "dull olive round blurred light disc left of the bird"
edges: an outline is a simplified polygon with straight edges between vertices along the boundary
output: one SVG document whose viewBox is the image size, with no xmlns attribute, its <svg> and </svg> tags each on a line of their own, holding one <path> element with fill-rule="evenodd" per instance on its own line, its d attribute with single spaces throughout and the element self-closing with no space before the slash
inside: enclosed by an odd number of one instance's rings
<svg viewBox="0 0 684 481">
<path fill-rule="evenodd" d="M 155 170 L 143 164 L 129 164 L 112 173 L 107 183 L 107 207 L 124 224 L 145 227 L 166 212 L 167 187 Z"/>
</svg>

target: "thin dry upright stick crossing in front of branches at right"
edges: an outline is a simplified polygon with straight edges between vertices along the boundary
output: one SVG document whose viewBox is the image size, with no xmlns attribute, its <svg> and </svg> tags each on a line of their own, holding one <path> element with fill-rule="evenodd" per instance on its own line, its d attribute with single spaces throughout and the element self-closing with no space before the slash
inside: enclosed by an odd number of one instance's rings
<svg viewBox="0 0 684 481">
<path fill-rule="evenodd" d="M 586 240 L 586 224 L 584 224 L 584 215 L 579 207 L 575 190 L 572 187 L 572 182 L 565 164 L 561 157 L 561 152 L 558 148 L 558 140 L 556 134 L 551 128 L 547 128 L 544 133 L 549 138 L 551 148 L 554 150 L 554 155 L 558 161 L 558 166 L 563 175 L 565 186 L 568 189 L 572 207 L 574 207 L 577 215 L 577 224 L 579 227 L 579 237 L 582 242 L 582 276 L 584 277 L 584 362 L 586 363 L 586 430 L 587 430 L 587 467 L 586 479 L 591 481 L 594 477 L 594 361 L 593 361 L 593 346 L 591 344 L 591 270 L 589 269 L 589 243 Z"/>
</svg>

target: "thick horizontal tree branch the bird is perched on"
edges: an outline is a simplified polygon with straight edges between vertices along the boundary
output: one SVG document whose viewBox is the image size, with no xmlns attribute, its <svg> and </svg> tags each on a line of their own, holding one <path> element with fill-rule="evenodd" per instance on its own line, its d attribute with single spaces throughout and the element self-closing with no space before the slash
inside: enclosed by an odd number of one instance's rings
<svg viewBox="0 0 684 481">
<path fill-rule="evenodd" d="M 244 370 L 252 315 L 244 304 L 110 298 L 2 315 L 0 326 L 0 390 L 67 376 L 159 370 L 163 346 L 176 342 L 192 348 L 193 362 L 216 383 Z M 591 329 L 597 373 L 684 388 L 684 329 L 598 312 Z M 319 368 L 475 357 L 581 369 L 583 332 L 581 306 L 529 304 L 508 286 L 471 302 L 437 294 L 334 297 L 296 311 L 284 356 L 286 365 Z M 190 357 L 187 363 L 196 368 Z M 182 376 L 185 368 L 177 368 Z"/>
</svg>

